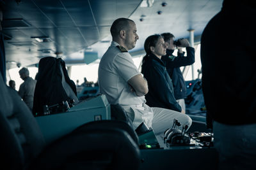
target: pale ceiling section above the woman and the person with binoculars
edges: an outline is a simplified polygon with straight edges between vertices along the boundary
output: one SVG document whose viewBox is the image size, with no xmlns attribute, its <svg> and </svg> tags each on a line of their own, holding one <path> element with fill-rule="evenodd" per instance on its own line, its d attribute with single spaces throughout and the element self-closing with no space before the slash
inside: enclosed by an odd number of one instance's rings
<svg viewBox="0 0 256 170">
<path fill-rule="evenodd" d="M 140 39 L 131 52 L 142 50 L 145 39 L 151 34 L 172 32 L 175 38 L 189 38 L 187 30 L 195 29 L 195 36 L 200 36 L 207 22 L 221 10 L 222 1 L 166 0 L 155 1 L 150 8 L 138 8 L 131 19 L 136 22 Z M 167 5 L 162 6 L 163 2 Z M 161 11 L 161 15 L 157 11 Z"/>
</svg>

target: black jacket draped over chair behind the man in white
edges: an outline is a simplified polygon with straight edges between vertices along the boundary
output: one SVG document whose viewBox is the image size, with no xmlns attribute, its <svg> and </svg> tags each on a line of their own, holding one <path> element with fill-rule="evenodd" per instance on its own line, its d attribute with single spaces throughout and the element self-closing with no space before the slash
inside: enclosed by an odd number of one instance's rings
<svg viewBox="0 0 256 170">
<path fill-rule="evenodd" d="M 65 80 L 63 80 L 61 72 Z M 62 81 L 67 82 L 69 85 L 68 88 L 71 88 L 71 91 L 74 93 L 67 93 Z M 62 101 L 70 101 L 70 99 L 74 99 L 75 103 L 78 103 L 76 95 L 76 84 L 68 77 L 64 60 L 54 57 L 42 58 L 38 66 L 38 80 L 34 94 L 33 114 L 43 113 L 44 105 L 51 106 Z"/>
</svg>

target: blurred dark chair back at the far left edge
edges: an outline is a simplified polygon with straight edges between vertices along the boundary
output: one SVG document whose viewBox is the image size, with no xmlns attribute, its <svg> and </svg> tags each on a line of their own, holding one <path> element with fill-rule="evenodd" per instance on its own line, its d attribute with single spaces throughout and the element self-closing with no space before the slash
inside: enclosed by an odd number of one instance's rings
<svg viewBox="0 0 256 170">
<path fill-rule="evenodd" d="M 44 148 L 44 138 L 28 106 L 0 75 L 1 169 L 23 169 Z"/>
</svg>

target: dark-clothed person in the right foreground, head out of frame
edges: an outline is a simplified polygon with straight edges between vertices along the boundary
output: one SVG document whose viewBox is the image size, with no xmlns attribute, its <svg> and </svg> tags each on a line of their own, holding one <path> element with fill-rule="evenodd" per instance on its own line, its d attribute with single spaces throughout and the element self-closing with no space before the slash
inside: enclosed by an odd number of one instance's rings
<svg viewBox="0 0 256 170">
<path fill-rule="evenodd" d="M 220 169 L 256 169 L 256 4 L 224 0 L 201 38 L 207 124 Z"/>
</svg>

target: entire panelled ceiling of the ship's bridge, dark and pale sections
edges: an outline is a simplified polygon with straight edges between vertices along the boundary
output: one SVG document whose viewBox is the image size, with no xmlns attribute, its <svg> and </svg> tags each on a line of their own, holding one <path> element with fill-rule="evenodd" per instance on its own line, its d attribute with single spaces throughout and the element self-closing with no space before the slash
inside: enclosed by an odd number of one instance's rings
<svg viewBox="0 0 256 170">
<path fill-rule="evenodd" d="M 86 48 L 98 52 L 101 57 L 111 41 L 111 24 L 120 17 L 130 17 L 137 25 L 140 39 L 131 52 L 142 50 L 150 34 L 172 32 L 176 38 L 188 38 L 187 30 L 191 28 L 197 36 L 220 11 L 222 1 L 155 0 L 152 7 L 141 8 L 141 0 L 22 0 L 19 5 L 14 0 L 2 0 L 4 22 L 16 18 L 29 24 L 28 27 L 3 27 L 4 34 L 12 36 L 4 42 L 6 60 L 17 60 L 22 66 L 28 66 L 36 64 L 38 57 L 56 56 L 55 52 L 62 52 L 65 59 L 76 59 L 72 53 Z M 163 7 L 163 2 L 167 6 Z M 157 11 L 162 11 L 161 15 Z M 38 43 L 31 36 L 47 36 L 52 42 Z M 14 46 L 10 42 L 36 45 Z M 44 49 L 51 53 L 43 52 Z"/>
</svg>

